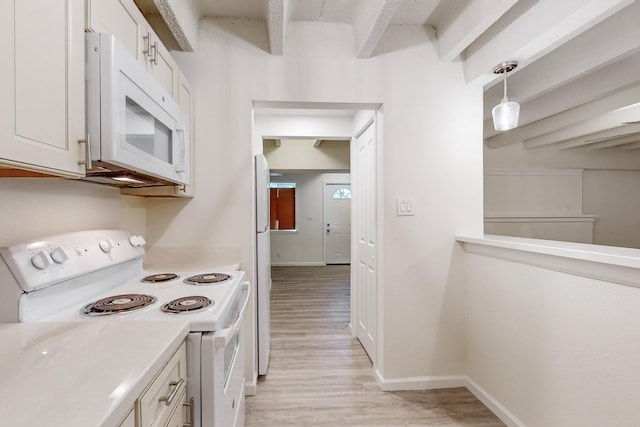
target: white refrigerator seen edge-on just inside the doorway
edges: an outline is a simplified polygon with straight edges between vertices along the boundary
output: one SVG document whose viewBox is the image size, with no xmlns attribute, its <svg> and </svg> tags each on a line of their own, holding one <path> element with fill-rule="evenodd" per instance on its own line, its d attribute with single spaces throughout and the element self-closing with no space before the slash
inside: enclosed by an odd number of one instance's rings
<svg viewBox="0 0 640 427">
<path fill-rule="evenodd" d="M 269 166 L 256 155 L 256 272 L 258 375 L 265 375 L 271 351 L 271 242 L 269 238 Z"/>
</svg>

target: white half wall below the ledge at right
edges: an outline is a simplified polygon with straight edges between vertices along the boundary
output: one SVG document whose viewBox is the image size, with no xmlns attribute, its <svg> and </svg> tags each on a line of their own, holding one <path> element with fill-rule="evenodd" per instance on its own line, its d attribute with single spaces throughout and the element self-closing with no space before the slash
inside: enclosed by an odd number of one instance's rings
<svg viewBox="0 0 640 427">
<path fill-rule="evenodd" d="M 512 421 L 638 425 L 638 288 L 470 253 L 465 268 L 466 373 Z"/>
</svg>

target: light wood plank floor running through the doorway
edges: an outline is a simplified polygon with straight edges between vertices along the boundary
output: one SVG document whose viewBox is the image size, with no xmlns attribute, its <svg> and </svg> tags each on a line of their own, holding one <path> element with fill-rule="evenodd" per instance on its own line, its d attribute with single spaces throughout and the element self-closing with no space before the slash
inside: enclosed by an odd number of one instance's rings
<svg viewBox="0 0 640 427">
<path fill-rule="evenodd" d="M 349 333 L 349 266 L 274 267 L 271 363 L 247 426 L 503 426 L 467 389 L 380 391 Z"/>
</svg>

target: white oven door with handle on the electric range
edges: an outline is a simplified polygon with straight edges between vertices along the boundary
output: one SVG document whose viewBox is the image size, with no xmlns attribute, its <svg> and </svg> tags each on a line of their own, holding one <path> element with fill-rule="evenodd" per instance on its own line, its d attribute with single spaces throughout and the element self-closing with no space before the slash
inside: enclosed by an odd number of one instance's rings
<svg viewBox="0 0 640 427">
<path fill-rule="evenodd" d="M 233 325 L 202 335 L 201 427 L 244 425 L 243 324 L 250 286 L 242 287 Z"/>
</svg>

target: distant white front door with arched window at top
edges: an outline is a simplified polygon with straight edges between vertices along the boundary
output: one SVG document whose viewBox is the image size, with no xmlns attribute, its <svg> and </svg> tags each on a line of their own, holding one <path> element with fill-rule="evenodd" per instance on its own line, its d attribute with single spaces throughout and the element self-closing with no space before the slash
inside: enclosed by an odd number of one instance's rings
<svg viewBox="0 0 640 427">
<path fill-rule="evenodd" d="M 351 263 L 351 184 L 324 186 L 325 262 Z"/>
</svg>

